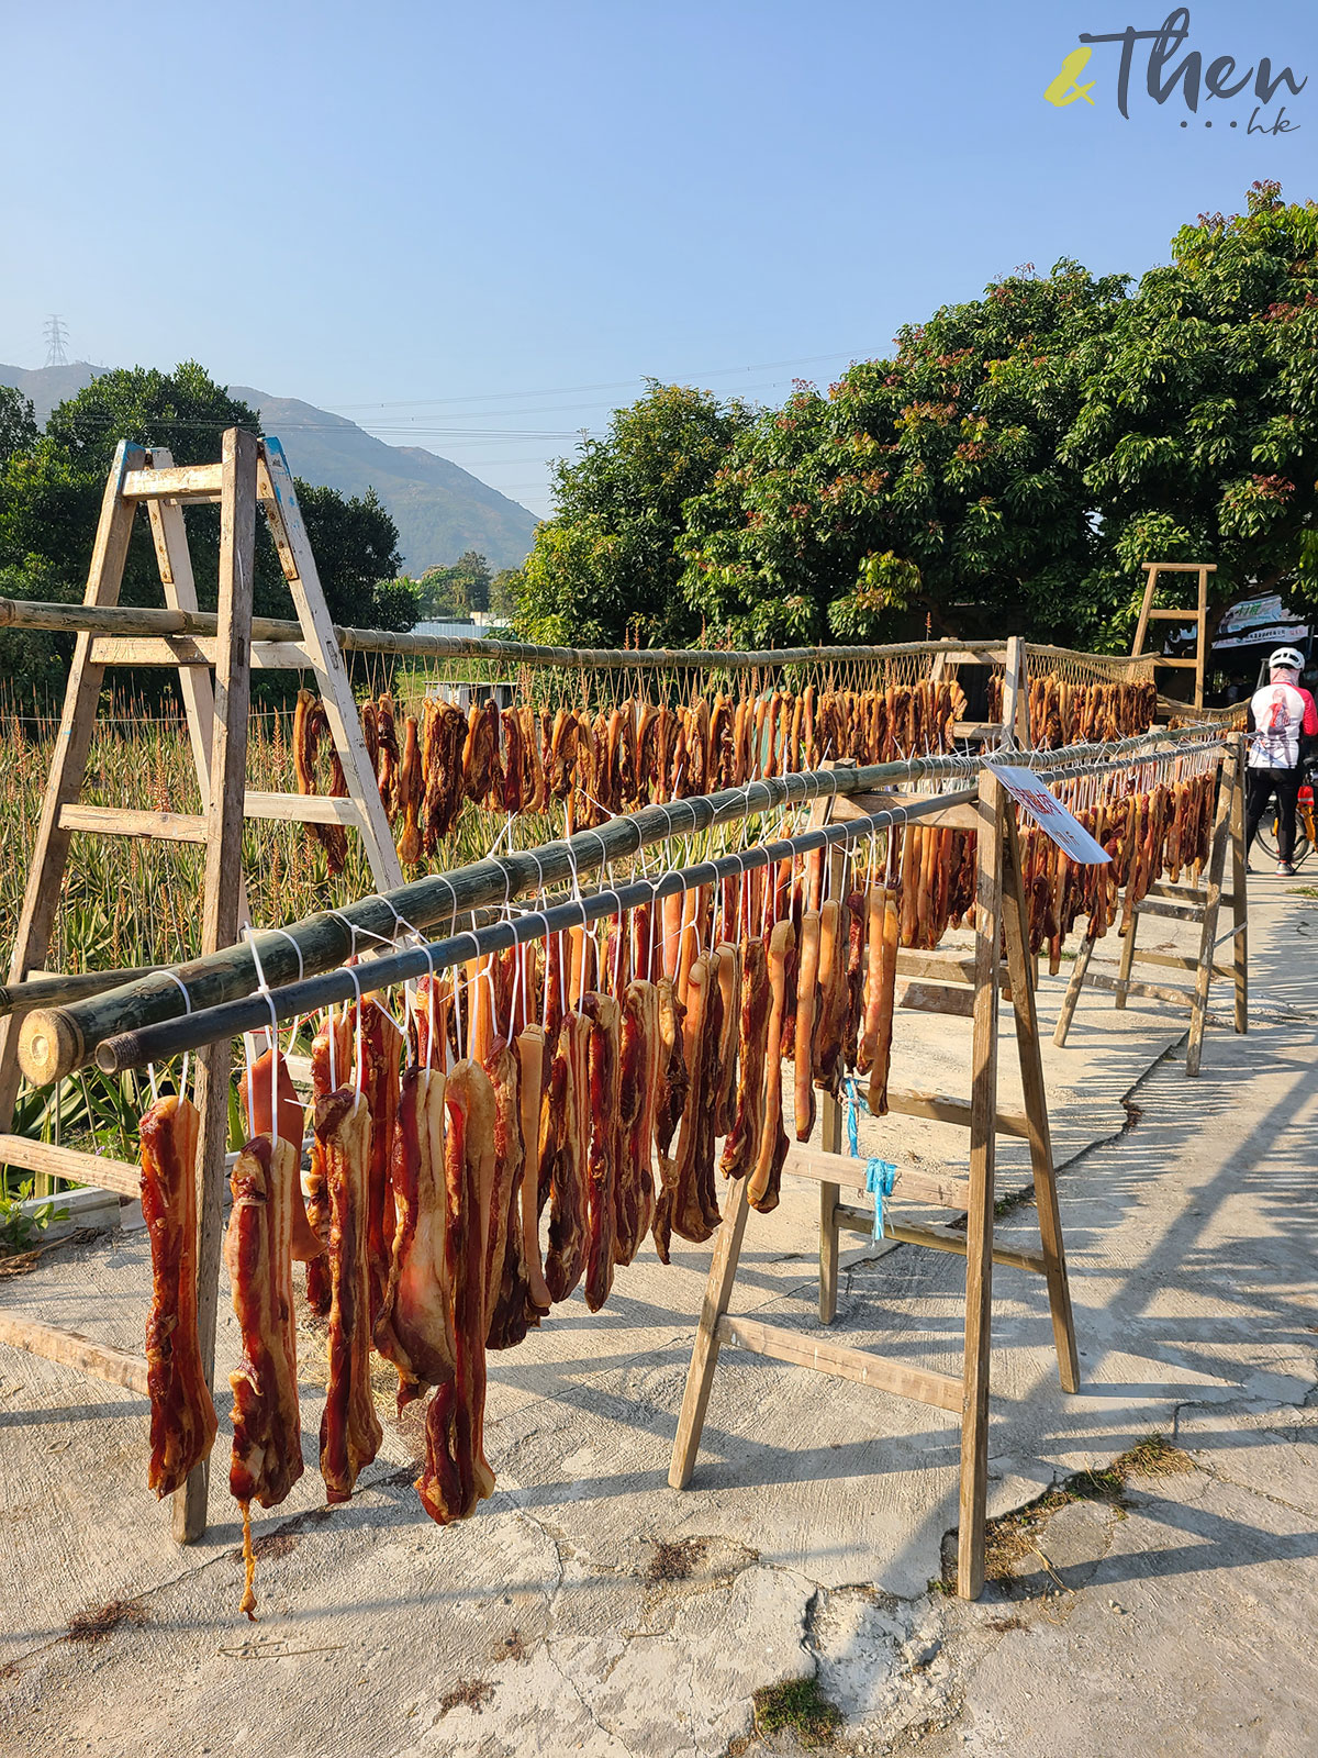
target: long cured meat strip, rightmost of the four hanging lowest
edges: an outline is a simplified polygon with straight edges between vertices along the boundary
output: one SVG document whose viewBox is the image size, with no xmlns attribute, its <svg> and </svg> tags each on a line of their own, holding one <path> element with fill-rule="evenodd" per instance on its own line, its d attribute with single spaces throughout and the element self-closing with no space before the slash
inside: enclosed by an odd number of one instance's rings
<svg viewBox="0 0 1318 1758">
<path fill-rule="evenodd" d="M 494 1491 L 485 1457 L 485 1246 L 482 1217 L 494 1188 L 496 1099 L 474 1062 L 459 1062 L 445 1088 L 448 1280 L 453 1290 L 453 1377 L 425 1412 L 425 1466 L 416 1493 L 446 1526 L 474 1514 Z"/>
</svg>

